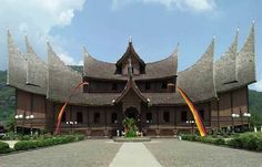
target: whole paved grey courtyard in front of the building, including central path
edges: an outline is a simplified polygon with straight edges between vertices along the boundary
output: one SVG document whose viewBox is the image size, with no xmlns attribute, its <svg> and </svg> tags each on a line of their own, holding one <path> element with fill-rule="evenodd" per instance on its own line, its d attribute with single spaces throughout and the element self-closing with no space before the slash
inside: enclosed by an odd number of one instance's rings
<svg viewBox="0 0 262 167">
<path fill-rule="evenodd" d="M 262 154 L 178 139 L 87 139 L 0 157 L 1 167 L 261 167 Z"/>
</svg>

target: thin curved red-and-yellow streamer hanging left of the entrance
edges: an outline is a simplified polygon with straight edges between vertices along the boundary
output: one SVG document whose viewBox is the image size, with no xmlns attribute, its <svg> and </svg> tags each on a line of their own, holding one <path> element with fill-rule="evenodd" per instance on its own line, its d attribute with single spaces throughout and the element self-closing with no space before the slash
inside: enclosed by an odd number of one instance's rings
<svg viewBox="0 0 262 167">
<path fill-rule="evenodd" d="M 58 115 L 58 123 L 57 123 L 57 128 L 56 128 L 56 133 L 54 133 L 56 135 L 59 134 L 59 129 L 60 129 L 60 124 L 61 124 L 62 115 L 63 115 L 64 109 L 66 109 L 66 107 L 67 107 L 69 101 L 71 100 L 73 93 L 74 93 L 80 86 L 82 86 L 82 85 L 88 85 L 88 84 L 89 84 L 88 82 L 81 82 L 81 83 L 77 84 L 74 87 L 72 87 L 72 90 L 70 91 L 70 94 L 69 94 L 69 96 L 68 96 L 66 103 L 63 104 L 63 106 L 62 106 L 62 108 L 60 109 L 59 115 Z"/>
</svg>

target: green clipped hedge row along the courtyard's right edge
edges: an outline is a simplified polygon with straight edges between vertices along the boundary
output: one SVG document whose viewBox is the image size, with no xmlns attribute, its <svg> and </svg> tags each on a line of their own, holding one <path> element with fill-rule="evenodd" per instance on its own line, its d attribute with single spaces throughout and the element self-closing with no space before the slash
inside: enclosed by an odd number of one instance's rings
<svg viewBox="0 0 262 167">
<path fill-rule="evenodd" d="M 184 140 L 202 142 L 214 145 L 226 145 L 234 148 L 245 148 L 249 150 L 262 150 L 262 133 L 244 133 L 233 135 L 232 138 L 224 139 L 222 136 L 198 136 L 194 134 L 182 134 Z"/>
</svg>

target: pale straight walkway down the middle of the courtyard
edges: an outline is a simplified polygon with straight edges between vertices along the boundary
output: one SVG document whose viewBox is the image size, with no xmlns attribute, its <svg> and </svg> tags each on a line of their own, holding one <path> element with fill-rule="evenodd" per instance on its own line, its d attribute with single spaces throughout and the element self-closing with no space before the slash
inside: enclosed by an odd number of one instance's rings
<svg viewBox="0 0 262 167">
<path fill-rule="evenodd" d="M 125 143 L 110 167 L 161 167 L 142 143 Z"/>
</svg>

